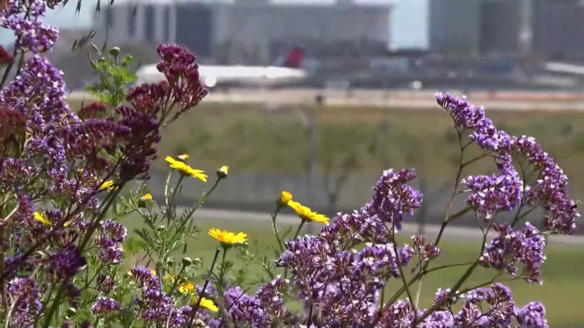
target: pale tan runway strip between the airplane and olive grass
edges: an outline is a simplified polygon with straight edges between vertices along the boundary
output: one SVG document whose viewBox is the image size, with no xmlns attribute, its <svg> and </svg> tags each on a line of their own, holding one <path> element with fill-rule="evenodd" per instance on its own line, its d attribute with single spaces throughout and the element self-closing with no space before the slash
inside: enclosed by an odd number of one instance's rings
<svg viewBox="0 0 584 328">
<path fill-rule="evenodd" d="M 452 92 L 462 95 L 460 91 Z M 326 90 L 326 89 L 232 89 L 212 90 L 204 102 L 258 103 L 263 106 L 314 104 L 317 95 L 332 106 L 369 106 L 395 110 L 434 110 L 434 92 L 426 90 Z M 468 99 L 486 110 L 584 111 L 584 93 L 568 92 L 469 92 Z M 69 99 L 91 102 L 85 92 L 72 92 Z"/>
</svg>

